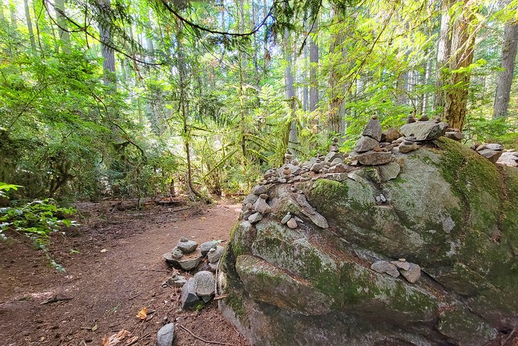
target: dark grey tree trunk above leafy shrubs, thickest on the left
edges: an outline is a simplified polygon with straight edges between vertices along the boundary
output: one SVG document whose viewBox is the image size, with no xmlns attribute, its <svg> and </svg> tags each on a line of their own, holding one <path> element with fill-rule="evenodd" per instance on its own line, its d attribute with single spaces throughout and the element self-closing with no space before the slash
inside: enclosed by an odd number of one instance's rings
<svg viewBox="0 0 518 346">
<path fill-rule="evenodd" d="M 111 0 L 97 0 L 101 20 L 99 21 L 99 38 L 101 40 L 102 67 L 104 69 L 104 84 L 114 85 L 115 89 L 115 51 L 111 46 Z"/>
</svg>

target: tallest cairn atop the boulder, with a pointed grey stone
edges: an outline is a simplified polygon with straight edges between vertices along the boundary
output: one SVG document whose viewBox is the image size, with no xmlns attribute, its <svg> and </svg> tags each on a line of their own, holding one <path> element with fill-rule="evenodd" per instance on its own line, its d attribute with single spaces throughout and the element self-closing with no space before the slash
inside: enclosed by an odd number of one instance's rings
<svg viewBox="0 0 518 346">
<path fill-rule="evenodd" d="M 380 146 L 382 136 L 381 124 L 377 115 L 373 117 L 363 129 L 362 136 L 356 142 L 351 159 L 363 166 L 378 166 L 392 160 L 392 145 Z"/>
</svg>

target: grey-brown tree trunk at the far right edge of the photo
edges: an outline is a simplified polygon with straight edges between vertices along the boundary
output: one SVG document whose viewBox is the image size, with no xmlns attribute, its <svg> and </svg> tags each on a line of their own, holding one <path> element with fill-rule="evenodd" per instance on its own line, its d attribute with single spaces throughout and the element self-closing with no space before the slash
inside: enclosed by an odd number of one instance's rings
<svg viewBox="0 0 518 346">
<path fill-rule="evenodd" d="M 495 92 L 495 107 L 493 117 L 507 116 L 509 97 L 511 94 L 512 79 L 514 77 L 514 64 L 518 48 L 518 21 L 514 20 L 506 24 L 504 31 L 504 43 L 502 46 L 502 69 L 497 79 Z"/>
</svg>

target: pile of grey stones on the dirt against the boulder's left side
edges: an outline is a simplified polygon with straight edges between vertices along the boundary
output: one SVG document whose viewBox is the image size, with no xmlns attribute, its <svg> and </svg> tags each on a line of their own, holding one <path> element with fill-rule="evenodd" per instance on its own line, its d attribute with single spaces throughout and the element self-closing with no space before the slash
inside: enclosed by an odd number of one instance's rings
<svg viewBox="0 0 518 346">
<path fill-rule="evenodd" d="M 162 287 L 182 288 L 184 310 L 207 303 L 215 294 L 214 273 L 223 252 L 224 247 L 219 245 L 219 241 L 204 242 L 198 247 L 197 242 L 181 238 L 172 251 L 163 257 L 175 269 L 197 272 L 190 279 L 175 273 L 162 283 Z"/>
</svg>

